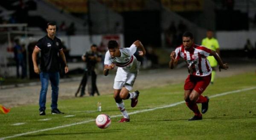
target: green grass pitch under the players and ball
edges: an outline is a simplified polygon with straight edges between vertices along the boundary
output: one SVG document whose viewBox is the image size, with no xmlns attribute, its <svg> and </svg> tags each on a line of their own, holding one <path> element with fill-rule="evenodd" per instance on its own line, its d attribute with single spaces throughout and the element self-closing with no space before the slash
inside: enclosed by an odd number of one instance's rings
<svg viewBox="0 0 256 140">
<path fill-rule="evenodd" d="M 117 122 L 121 116 L 115 115 L 121 113 L 112 94 L 59 100 L 63 115 L 50 114 L 50 103 L 46 116 L 38 115 L 38 105 L 19 106 L 0 114 L 0 140 L 256 140 L 255 73 L 217 78 L 203 95 L 229 91 L 210 98 L 209 110 L 199 121 L 187 121 L 193 113 L 185 103 L 154 109 L 183 101 L 183 83 L 140 90 L 135 108 L 125 100 L 125 108 L 132 113 L 129 123 Z M 97 102 L 102 103 L 102 112 L 96 111 Z M 201 104 L 198 107 L 201 110 Z M 107 129 L 95 125 L 98 114 L 112 116 Z"/>
</svg>

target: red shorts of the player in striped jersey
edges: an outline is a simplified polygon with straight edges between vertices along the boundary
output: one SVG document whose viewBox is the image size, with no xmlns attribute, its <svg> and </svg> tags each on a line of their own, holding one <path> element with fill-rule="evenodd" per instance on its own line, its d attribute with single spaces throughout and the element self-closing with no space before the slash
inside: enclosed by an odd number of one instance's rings
<svg viewBox="0 0 256 140">
<path fill-rule="evenodd" d="M 186 78 L 184 84 L 184 90 L 195 89 L 199 94 L 202 94 L 211 82 L 212 74 L 207 76 L 194 76 L 190 75 Z"/>
</svg>

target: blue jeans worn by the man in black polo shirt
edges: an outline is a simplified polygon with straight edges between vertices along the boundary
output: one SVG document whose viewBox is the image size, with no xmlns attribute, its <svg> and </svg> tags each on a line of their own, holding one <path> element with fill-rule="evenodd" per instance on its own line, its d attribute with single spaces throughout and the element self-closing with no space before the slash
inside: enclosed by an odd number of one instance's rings
<svg viewBox="0 0 256 140">
<path fill-rule="evenodd" d="M 46 109 L 46 95 L 48 89 L 49 80 L 52 86 L 52 109 L 57 109 L 57 101 L 58 101 L 58 85 L 59 85 L 60 75 L 58 72 L 40 72 L 40 80 L 41 80 L 41 91 L 39 97 L 39 111 L 44 111 Z"/>
</svg>

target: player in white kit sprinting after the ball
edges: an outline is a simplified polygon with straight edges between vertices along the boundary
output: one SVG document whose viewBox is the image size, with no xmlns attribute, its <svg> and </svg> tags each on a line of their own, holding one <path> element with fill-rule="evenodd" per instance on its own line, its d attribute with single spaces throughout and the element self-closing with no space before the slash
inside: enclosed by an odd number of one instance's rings
<svg viewBox="0 0 256 140">
<path fill-rule="evenodd" d="M 108 51 L 105 54 L 104 75 L 107 76 L 109 70 L 114 69 L 115 66 L 118 67 L 113 89 L 116 105 L 123 115 L 123 118 L 119 120 L 120 123 L 130 121 L 122 100 L 131 99 L 131 107 L 135 107 L 138 103 L 140 92 L 130 92 L 140 67 L 140 61 L 134 56 L 137 48 L 141 50 L 139 55 L 141 57 L 145 56 L 146 51 L 139 40 L 135 41 L 130 48 L 121 49 L 119 49 L 118 43 L 115 40 L 110 40 L 108 42 Z"/>
</svg>

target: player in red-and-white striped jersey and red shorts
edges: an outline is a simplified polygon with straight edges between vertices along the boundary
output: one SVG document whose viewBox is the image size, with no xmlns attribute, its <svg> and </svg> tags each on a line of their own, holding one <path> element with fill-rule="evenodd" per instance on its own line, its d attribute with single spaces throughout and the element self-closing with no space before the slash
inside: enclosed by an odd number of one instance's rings
<svg viewBox="0 0 256 140">
<path fill-rule="evenodd" d="M 184 100 L 186 105 L 195 113 L 195 116 L 189 120 L 202 120 L 202 114 L 207 112 L 209 97 L 201 94 L 207 88 L 211 81 L 212 68 L 207 60 L 208 56 L 213 56 L 218 61 L 219 70 L 228 69 L 227 63 L 223 64 L 219 55 L 204 46 L 198 46 L 194 43 L 194 37 L 191 32 L 185 32 L 182 36 L 183 44 L 172 51 L 169 62 L 169 68 L 173 69 L 180 57 L 187 63 L 189 75 L 184 84 Z M 198 110 L 197 103 L 202 103 L 201 112 Z"/>
</svg>

